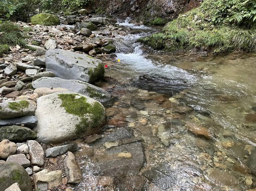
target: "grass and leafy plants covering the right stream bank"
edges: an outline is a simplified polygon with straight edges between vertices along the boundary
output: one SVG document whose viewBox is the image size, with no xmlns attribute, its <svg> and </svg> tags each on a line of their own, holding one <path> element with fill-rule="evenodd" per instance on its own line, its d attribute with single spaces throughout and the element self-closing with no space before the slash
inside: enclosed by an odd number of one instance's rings
<svg viewBox="0 0 256 191">
<path fill-rule="evenodd" d="M 167 23 L 160 33 L 139 41 L 172 52 L 255 51 L 255 29 L 255 0 L 204 0 L 199 8 Z"/>
</svg>

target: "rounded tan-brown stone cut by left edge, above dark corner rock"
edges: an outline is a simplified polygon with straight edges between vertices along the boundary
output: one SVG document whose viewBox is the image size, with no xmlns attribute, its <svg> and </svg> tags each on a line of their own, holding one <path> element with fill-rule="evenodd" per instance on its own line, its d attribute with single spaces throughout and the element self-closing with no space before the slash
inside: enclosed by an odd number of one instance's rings
<svg viewBox="0 0 256 191">
<path fill-rule="evenodd" d="M 5 159 L 10 155 L 13 155 L 17 150 L 17 146 L 14 142 L 7 139 L 0 142 L 0 159 Z"/>
</svg>

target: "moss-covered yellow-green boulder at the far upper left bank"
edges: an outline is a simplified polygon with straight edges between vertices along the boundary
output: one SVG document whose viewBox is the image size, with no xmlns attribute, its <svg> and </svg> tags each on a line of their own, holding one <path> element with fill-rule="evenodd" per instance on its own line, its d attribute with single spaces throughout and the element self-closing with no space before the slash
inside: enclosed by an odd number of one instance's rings
<svg viewBox="0 0 256 191">
<path fill-rule="evenodd" d="M 46 26 L 58 25 L 60 24 L 60 20 L 57 16 L 47 13 L 41 13 L 38 15 L 34 15 L 31 17 L 32 24 L 41 24 Z"/>
</svg>

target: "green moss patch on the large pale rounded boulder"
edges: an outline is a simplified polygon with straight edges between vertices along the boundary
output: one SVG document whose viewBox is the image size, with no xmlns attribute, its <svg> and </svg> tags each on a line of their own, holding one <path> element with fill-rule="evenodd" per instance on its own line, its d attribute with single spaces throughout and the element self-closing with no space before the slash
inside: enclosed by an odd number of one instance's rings
<svg viewBox="0 0 256 191">
<path fill-rule="evenodd" d="M 78 94 L 59 94 L 59 98 L 63 101 L 61 107 L 64 107 L 67 113 L 80 117 L 80 122 L 76 125 L 76 133 L 89 133 L 91 129 L 99 127 L 102 123 L 102 115 L 104 107 L 100 103 L 90 104 L 86 101 L 86 97 L 76 97 Z"/>
</svg>

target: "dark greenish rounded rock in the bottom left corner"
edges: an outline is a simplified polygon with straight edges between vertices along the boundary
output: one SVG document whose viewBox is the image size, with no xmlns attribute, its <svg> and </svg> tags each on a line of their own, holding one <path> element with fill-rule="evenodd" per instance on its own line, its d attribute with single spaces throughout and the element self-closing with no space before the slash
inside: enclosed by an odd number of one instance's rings
<svg viewBox="0 0 256 191">
<path fill-rule="evenodd" d="M 0 172 L 1 191 L 4 191 L 16 182 L 22 191 L 32 191 L 32 181 L 26 170 L 20 164 L 16 162 L 1 163 Z"/>
</svg>

